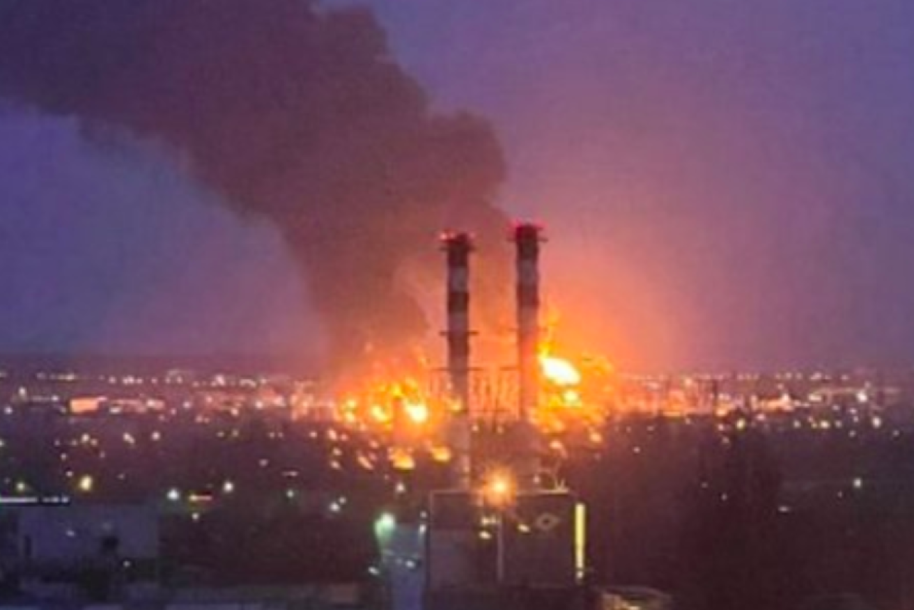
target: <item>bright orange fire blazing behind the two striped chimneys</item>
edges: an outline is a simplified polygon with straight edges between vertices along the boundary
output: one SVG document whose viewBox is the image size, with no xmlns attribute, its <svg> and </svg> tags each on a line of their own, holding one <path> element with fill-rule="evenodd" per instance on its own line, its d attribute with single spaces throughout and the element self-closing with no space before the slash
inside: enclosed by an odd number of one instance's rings
<svg viewBox="0 0 914 610">
<path fill-rule="evenodd" d="M 561 458 L 570 447 L 600 443 L 609 401 L 605 366 L 557 352 L 551 341 L 540 347 L 539 405 L 531 419 L 547 439 L 543 447 Z M 504 369 L 493 367 L 474 373 L 469 413 L 474 426 L 503 426 L 516 417 L 516 378 L 500 371 Z M 347 384 L 335 401 L 337 416 L 345 426 L 387 446 L 395 470 L 415 468 L 420 455 L 448 463 L 452 447 L 447 423 L 455 408 L 449 388 L 447 373 L 424 359 L 378 366 L 360 383 Z"/>
</svg>

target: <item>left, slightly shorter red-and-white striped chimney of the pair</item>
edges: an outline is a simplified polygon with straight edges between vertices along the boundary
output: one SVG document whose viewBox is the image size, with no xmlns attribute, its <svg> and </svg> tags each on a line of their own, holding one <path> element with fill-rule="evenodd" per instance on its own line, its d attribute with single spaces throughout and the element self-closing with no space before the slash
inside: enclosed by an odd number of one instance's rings
<svg viewBox="0 0 914 610">
<path fill-rule="evenodd" d="M 469 489 L 470 464 L 470 253 L 468 233 L 445 233 L 441 240 L 447 259 L 448 375 L 455 405 L 450 418 L 453 478 L 459 489 Z"/>
</svg>

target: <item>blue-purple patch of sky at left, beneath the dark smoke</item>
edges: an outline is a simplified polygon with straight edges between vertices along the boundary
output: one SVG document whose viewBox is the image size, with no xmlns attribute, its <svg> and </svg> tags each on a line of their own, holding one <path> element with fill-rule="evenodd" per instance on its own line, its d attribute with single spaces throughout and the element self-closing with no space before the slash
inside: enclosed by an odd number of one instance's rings
<svg viewBox="0 0 914 610">
<path fill-rule="evenodd" d="M 242 222 L 164 155 L 0 115 L 0 350 L 290 353 L 320 329 L 271 226 Z"/>
</svg>

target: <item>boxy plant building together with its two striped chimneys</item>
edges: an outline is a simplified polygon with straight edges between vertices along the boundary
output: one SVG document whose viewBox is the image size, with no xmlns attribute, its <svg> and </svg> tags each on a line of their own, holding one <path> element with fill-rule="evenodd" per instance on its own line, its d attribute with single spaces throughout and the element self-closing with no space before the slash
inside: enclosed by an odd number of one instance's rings
<svg viewBox="0 0 914 610">
<path fill-rule="evenodd" d="M 388 549 L 391 556 L 412 552 L 421 558 L 419 581 L 398 578 L 396 561 L 388 562 L 392 599 L 400 605 L 405 604 L 405 592 L 398 587 L 404 586 L 421 587 L 427 610 L 569 608 L 584 603 L 584 505 L 541 470 L 546 444 L 545 431 L 537 426 L 546 358 L 540 338 L 542 229 L 518 224 L 511 238 L 516 252 L 516 363 L 509 374 L 515 377 L 516 402 L 506 416 L 494 416 L 483 405 L 474 405 L 477 393 L 472 390 L 473 238 L 462 232 L 441 237 L 447 269 L 447 392 L 438 400 L 452 475 L 446 488 L 430 491 L 422 522 L 399 526 L 420 535 L 390 539 L 413 541 L 411 550 L 409 544 Z M 568 381 L 573 385 L 578 380 Z M 579 398 L 572 402 L 578 405 Z M 401 400 L 399 408 L 410 406 Z"/>
</svg>

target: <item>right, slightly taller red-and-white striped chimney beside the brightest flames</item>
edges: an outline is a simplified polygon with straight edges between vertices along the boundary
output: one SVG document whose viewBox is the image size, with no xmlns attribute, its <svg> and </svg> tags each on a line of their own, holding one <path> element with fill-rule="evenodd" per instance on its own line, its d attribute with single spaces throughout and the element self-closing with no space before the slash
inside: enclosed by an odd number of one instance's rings
<svg viewBox="0 0 914 610">
<path fill-rule="evenodd" d="M 542 228 L 532 223 L 515 226 L 517 304 L 517 413 L 521 425 L 520 479 L 532 484 L 537 476 L 536 437 L 530 417 L 539 399 L 539 247 Z"/>
</svg>

